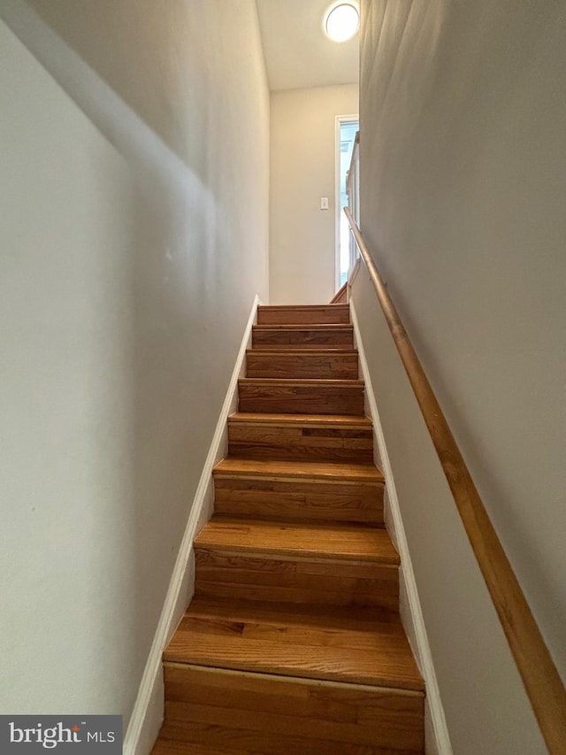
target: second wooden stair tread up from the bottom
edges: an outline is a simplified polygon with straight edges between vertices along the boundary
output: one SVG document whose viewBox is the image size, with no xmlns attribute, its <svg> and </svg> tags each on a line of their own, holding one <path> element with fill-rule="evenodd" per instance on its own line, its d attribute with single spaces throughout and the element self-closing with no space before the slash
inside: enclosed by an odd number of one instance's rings
<svg viewBox="0 0 566 755">
<path fill-rule="evenodd" d="M 253 551 L 261 556 L 349 559 L 399 565 L 385 529 L 353 524 L 240 520 L 214 516 L 195 539 L 195 548 Z"/>
</svg>

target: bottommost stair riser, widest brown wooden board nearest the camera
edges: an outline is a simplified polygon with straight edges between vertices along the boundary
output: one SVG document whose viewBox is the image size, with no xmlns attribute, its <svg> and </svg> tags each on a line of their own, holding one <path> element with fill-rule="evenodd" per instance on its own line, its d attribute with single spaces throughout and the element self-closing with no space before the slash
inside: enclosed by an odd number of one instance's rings
<svg viewBox="0 0 566 755">
<path fill-rule="evenodd" d="M 163 735 L 172 740 L 273 755 L 423 751 L 417 695 L 168 664 L 164 682 Z"/>
</svg>

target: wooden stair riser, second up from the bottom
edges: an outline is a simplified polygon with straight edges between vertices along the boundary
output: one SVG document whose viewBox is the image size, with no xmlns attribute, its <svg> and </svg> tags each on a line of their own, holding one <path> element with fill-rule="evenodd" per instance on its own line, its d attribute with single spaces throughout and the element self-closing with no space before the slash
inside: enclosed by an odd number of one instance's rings
<svg viewBox="0 0 566 755">
<path fill-rule="evenodd" d="M 195 547 L 195 595 L 399 608 L 399 571 L 375 563 L 264 558 Z"/>
</svg>

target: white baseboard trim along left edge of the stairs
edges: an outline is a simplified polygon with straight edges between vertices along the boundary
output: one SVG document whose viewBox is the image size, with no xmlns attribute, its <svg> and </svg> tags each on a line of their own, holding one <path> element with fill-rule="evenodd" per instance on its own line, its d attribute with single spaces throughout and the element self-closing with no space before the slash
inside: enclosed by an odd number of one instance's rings
<svg viewBox="0 0 566 755">
<path fill-rule="evenodd" d="M 233 368 L 226 398 L 220 415 L 210 449 L 203 466 L 193 505 L 187 520 L 187 527 L 180 543 L 179 554 L 173 567 L 171 582 L 165 596 L 163 610 L 157 624 L 156 634 L 151 644 L 142 682 L 138 690 L 132 717 L 124 739 L 124 755 L 149 755 L 163 721 L 163 668 L 162 654 L 172 637 L 175 628 L 187 608 L 194 592 L 195 567 L 193 542 L 203 524 L 210 519 L 213 505 L 212 467 L 226 456 L 227 420 L 235 411 L 238 401 L 238 379 L 244 371 L 246 349 L 251 338 L 251 328 L 256 320 L 259 297 L 255 297 L 249 320 L 241 340 L 240 351 Z"/>
</svg>

